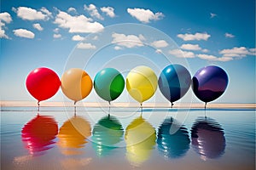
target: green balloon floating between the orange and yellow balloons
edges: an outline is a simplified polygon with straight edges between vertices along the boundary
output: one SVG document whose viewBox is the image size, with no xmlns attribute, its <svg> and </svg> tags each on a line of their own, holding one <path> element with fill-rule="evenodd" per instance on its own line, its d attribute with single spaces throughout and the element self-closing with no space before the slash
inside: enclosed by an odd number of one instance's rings
<svg viewBox="0 0 256 170">
<path fill-rule="evenodd" d="M 102 99 L 110 102 L 117 99 L 125 88 L 125 79 L 113 68 L 99 71 L 94 78 L 94 89 Z"/>
</svg>

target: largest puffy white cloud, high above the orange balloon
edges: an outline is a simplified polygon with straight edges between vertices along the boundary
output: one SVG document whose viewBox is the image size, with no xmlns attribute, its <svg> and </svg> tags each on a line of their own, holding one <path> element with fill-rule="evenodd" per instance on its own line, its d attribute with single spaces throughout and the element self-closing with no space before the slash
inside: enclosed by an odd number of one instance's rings
<svg viewBox="0 0 256 170">
<path fill-rule="evenodd" d="M 72 16 L 66 12 L 59 11 L 56 15 L 55 24 L 61 28 L 69 29 L 69 32 L 95 33 L 102 31 L 104 26 L 98 22 L 93 22 L 92 19 L 87 18 L 83 14 L 79 16 Z"/>
</svg>

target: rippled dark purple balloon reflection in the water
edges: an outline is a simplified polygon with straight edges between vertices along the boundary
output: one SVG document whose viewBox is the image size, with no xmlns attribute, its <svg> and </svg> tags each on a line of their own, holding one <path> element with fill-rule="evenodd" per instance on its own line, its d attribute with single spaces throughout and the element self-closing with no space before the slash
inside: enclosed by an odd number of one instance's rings
<svg viewBox="0 0 256 170">
<path fill-rule="evenodd" d="M 218 158 L 224 154 L 224 130 L 212 118 L 199 117 L 191 129 L 192 145 L 201 159 Z"/>
</svg>

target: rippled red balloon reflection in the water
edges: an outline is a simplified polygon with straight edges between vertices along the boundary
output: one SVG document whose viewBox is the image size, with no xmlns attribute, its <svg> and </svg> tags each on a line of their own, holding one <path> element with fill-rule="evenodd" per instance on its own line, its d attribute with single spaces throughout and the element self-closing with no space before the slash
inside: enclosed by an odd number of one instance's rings
<svg viewBox="0 0 256 170">
<path fill-rule="evenodd" d="M 32 156 L 44 154 L 55 144 L 58 125 L 52 116 L 35 116 L 21 130 L 21 138 Z"/>
</svg>

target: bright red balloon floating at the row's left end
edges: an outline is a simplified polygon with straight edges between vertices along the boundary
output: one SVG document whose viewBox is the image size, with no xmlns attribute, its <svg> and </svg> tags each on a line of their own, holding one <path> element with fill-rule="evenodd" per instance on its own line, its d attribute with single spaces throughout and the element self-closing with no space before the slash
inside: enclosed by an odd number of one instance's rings
<svg viewBox="0 0 256 170">
<path fill-rule="evenodd" d="M 60 78 L 48 68 L 37 68 L 26 77 L 26 89 L 38 102 L 51 98 L 60 86 Z"/>
</svg>

